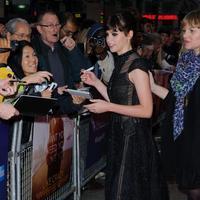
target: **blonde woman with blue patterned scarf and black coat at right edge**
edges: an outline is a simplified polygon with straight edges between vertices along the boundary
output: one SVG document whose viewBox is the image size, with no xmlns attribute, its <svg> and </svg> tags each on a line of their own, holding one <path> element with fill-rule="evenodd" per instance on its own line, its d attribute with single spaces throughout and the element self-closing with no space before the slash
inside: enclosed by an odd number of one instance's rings
<svg viewBox="0 0 200 200">
<path fill-rule="evenodd" d="M 152 91 L 168 103 L 163 128 L 163 152 L 175 156 L 179 189 L 188 200 L 200 199 L 200 10 L 188 13 L 182 21 L 183 51 L 170 88 L 154 83 Z M 173 134 L 172 134 L 173 133 Z M 170 146 L 167 144 L 170 142 Z M 169 151 L 173 152 L 171 155 Z M 172 155 L 173 154 L 173 155 Z M 169 161 L 166 161 L 169 163 Z"/>
</svg>

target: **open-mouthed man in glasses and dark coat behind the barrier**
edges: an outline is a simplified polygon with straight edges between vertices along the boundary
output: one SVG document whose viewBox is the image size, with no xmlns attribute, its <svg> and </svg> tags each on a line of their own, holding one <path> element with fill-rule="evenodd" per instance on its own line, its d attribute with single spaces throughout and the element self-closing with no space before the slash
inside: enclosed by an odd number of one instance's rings
<svg viewBox="0 0 200 200">
<path fill-rule="evenodd" d="M 80 82 L 80 70 L 89 67 L 88 60 L 76 47 L 75 41 L 68 36 L 60 39 L 60 22 L 53 11 L 45 11 L 38 17 L 36 25 L 40 36 L 35 37 L 33 45 L 38 54 L 40 70 L 46 70 L 53 74 L 58 87 L 68 85 L 73 88 Z M 63 105 L 61 113 L 73 111 L 71 100 L 63 94 L 62 98 L 69 102 L 60 101 Z M 70 106 L 71 105 L 71 106 Z"/>
</svg>

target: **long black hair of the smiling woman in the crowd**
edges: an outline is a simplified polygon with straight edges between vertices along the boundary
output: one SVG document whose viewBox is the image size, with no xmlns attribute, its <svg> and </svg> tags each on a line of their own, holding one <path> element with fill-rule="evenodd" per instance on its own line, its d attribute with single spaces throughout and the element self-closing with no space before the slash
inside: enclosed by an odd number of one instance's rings
<svg viewBox="0 0 200 200">
<path fill-rule="evenodd" d="M 15 73 L 16 77 L 19 79 L 25 76 L 22 69 L 22 55 L 23 49 L 26 46 L 33 48 L 32 44 L 28 41 L 18 41 L 16 49 L 14 51 L 11 51 L 8 57 L 8 66 L 10 66 L 10 68 Z"/>
</svg>

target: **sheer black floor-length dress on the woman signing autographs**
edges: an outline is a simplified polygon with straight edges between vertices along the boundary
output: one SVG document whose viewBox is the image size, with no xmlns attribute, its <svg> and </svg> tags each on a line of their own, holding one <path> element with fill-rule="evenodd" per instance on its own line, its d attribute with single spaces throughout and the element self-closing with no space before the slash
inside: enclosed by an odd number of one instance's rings
<svg viewBox="0 0 200 200">
<path fill-rule="evenodd" d="M 111 102 L 138 104 L 135 87 L 128 80 L 128 72 L 136 68 L 147 72 L 147 63 L 132 51 L 115 58 L 108 85 Z M 112 113 L 110 124 L 106 200 L 168 199 L 150 120 Z"/>
</svg>

